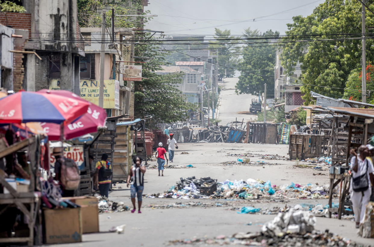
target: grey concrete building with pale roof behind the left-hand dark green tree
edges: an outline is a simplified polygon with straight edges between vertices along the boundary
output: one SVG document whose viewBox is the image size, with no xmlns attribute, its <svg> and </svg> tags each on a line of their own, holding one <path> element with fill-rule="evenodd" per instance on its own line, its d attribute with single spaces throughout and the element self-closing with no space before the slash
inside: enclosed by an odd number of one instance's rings
<svg viewBox="0 0 374 247">
<path fill-rule="evenodd" d="M 188 102 L 199 103 L 200 102 L 200 88 L 197 87 L 201 84 L 202 73 L 188 67 L 180 66 L 161 66 L 163 70 L 156 71 L 156 74 L 165 75 L 174 72 L 183 71 L 183 82 L 177 84 L 177 89 L 181 90 L 186 95 Z"/>
</svg>

